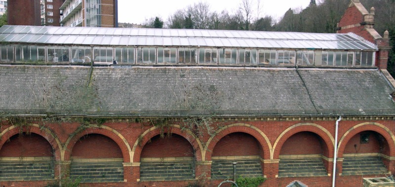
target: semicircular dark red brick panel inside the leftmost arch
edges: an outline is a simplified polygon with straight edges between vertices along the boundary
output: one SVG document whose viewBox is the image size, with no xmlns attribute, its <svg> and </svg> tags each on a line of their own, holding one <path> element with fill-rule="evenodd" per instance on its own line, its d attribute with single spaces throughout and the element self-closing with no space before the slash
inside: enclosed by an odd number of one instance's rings
<svg viewBox="0 0 395 187">
<path fill-rule="evenodd" d="M 52 146 L 40 135 L 17 134 L 0 149 L 0 157 L 52 157 Z"/>
</svg>

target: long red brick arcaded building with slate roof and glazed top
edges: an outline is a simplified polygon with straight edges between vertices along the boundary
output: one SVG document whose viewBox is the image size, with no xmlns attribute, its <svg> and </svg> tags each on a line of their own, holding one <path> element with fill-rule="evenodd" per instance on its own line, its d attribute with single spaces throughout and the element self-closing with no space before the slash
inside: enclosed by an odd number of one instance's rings
<svg viewBox="0 0 395 187">
<path fill-rule="evenodd" d="M 237 162 L 263 187 L 394 186 L 373 16 L 352 0 L 337 34 L 3 26 L 0 185 L 216 187 Z"/>
</svg>

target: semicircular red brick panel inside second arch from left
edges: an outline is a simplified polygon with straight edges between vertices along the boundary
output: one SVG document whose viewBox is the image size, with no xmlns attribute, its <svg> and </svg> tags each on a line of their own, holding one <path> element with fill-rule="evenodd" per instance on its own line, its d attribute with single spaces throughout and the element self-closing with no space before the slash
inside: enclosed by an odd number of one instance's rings
<svg viewBox="0 0 395 187">
<path fill-rule="evenodd" d="M 80 138 L 74 145 L 71 156 L 79 158 L 123 158 L 122 151 L 117 143 L 99 134 L 89 134 Z"/>
</svg>

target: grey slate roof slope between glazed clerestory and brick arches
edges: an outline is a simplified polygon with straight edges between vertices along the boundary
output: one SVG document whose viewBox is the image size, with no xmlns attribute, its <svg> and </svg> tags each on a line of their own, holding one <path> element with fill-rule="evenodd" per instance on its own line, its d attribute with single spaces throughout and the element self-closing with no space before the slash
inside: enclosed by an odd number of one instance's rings
<svg viewBox="0 0 395 187">
<path fill-rule="evenodd" d="M 378 70 L 117 66 L 90 70 L 79 66 L 0 66 L 0 112 L 98 116 L 395 114 L 390 96 L 393 89 Z"/>
</svg>

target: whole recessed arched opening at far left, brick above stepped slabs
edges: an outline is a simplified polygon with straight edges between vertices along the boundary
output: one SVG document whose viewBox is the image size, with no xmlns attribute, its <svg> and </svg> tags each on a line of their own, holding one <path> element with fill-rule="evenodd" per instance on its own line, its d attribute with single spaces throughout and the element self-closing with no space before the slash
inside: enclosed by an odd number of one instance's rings
<svg viewBox="0 0 395 187">
<path fill-rule="evenodd" d="M 16 134 L 0 148 L 0 181 L 51 180 L 53 161 L 53 148 L 42 136 Z"/>
</svg>

